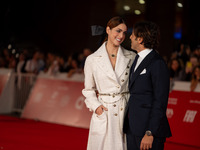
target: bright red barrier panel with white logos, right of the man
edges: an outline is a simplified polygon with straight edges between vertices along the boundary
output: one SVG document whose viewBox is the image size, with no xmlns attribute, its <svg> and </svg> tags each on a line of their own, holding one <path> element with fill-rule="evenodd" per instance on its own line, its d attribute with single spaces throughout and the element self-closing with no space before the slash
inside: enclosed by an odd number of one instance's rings
<svg viewBox="0 0 200 150">
<path fill-rule="evenodd" d="M 167 117 L 172 130 L 172 137 L 168 141 L 200 149 L 200 93 L 172 91 Z"/>
</svg>

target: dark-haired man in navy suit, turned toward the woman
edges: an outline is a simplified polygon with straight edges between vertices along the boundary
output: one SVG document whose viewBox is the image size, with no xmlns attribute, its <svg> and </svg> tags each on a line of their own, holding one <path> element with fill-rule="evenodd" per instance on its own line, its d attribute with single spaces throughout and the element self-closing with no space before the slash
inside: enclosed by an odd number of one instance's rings
<svg viewBox="0 0 200 150">
<path fill-rule="evenodd" d="M 166 117 L 169 73 L 155 51 L 159 33 L 156 24 L 139 22 L 130 36 L 131 49 L 137 51 L 138 59 L 130 72 L 130 98 L 123 127 L 128 150 L 162 150 L 166 137 L 171 136 Z"/>
</svg>

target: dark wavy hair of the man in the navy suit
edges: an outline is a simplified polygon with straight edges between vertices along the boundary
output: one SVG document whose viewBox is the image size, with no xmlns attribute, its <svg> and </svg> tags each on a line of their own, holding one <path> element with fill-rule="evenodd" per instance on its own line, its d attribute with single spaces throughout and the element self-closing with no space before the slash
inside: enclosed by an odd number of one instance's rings
<svg viewBox="0 0 200 150">
<path fill-rule="evenodd" d="M 134 35 L 143 38 L 146 48 L 157 49 L 159 45 L 160 30 L 153 22 L 138 22 L 133 27 Z"/>
</svg>

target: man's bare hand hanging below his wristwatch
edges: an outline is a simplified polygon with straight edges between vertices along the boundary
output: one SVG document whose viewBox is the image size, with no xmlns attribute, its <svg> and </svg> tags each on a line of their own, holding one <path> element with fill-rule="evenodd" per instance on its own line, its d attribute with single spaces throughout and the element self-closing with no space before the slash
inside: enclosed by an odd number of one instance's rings
<svg viewBox="0 0 200 150">
<path fill-rule="evenodd" d="M 147 136 L 145 134 L 140 144 L 140 150 L 148 150 L 152 148 L 152 143 L 153 143 L 153 136 Z"/>
</svg>

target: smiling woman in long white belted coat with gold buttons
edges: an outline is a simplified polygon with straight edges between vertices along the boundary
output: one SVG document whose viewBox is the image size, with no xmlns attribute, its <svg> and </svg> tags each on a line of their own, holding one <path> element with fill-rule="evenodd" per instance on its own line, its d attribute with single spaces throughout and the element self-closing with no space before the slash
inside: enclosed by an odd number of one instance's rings
<svg viewBox="0 0 200 150">
<path fill-rule="evenodd" d="M 120 44 L 127 26 L 120 17 L 112 18 L 106 27 L 106 41 L 85 62 L 86 106 L 93 111 L 88 150 L 124 150 L 122 126 L 128 100 L 129 70 L 135 54 Z"/>
</svg>

